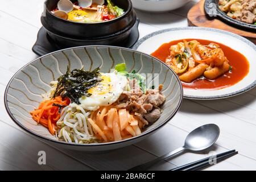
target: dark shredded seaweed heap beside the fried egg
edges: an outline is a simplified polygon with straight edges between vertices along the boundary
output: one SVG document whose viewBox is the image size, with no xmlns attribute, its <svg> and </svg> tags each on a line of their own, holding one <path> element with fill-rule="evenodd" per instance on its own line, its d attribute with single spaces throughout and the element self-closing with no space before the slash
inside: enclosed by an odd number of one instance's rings
<svg viewBox="0 0 256 182">
<path fill-rule="evenodd" d="M 101 81 L 100 68 L 94 69 L 92 72 L 84 71 L 84 69 L 74 69 L 72 72 L 67 68 L 65 75 L 58 78 L 58 84 L 53 97 L 68 97 L 71 102 L 81 104 L 79 98 L 82 96 L 90 97 L 88 93 L 90 88 L 96 86 Z"/>
</svg>

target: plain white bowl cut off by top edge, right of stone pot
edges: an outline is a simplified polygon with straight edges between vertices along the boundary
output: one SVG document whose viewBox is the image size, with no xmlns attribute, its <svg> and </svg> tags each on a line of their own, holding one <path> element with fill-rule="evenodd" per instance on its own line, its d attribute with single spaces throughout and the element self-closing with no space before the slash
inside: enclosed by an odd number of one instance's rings
<svg viewBox="0 0 256 182">
<path fill-rule="evenodd" d="M 191 0 L 131 0 L 135 9 L 155 13 L 178 9 L 189 1 Z"/>
</svg>

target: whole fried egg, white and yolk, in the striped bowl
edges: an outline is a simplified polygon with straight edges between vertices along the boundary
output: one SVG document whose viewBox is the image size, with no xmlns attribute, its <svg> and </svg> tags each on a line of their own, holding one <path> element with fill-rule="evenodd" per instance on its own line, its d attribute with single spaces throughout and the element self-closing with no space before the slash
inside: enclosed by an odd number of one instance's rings
<svg viewBox="0 0 256 182">
<path fill-rule="evenodd" d="M 127 89 L 127 78 L 115 73 L 101 73 L 101 82 L 88 90 L 90 97 L 81 97 L 79 101 L 86 110 L 97 110 L 100 106 L 112 105 Z"/>
</svg>

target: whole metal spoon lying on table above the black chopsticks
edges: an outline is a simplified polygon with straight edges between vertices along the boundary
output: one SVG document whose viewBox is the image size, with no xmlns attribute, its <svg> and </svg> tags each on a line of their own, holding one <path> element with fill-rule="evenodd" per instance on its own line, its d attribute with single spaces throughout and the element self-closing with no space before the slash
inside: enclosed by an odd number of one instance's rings
<svg viewBox="0 0 256 182">
<path fill-rule="evenodd" d="M 151 160 L 150 162 L 133 167 L 129 169 L 129 171 L 146 170 L 152 167 L 155 163 L 158 163 L 164 159 L 168 159 L 171 156 L 181 151 L 199 152 L 199 151 L 207 150 L 207 148 L 211 147 L 216 142 L 219 135 L 220 135 L 220 128 L 217 125 L 208 124 L 208 125 L 200 126 L 188 134 L 187 138 L 185 139 L 185 144 L 183 147 L 177 148 L 176 150 L 166 155 L 160 156 L 160 158 L 157 158 L 157 159 Z"/>
</svg>

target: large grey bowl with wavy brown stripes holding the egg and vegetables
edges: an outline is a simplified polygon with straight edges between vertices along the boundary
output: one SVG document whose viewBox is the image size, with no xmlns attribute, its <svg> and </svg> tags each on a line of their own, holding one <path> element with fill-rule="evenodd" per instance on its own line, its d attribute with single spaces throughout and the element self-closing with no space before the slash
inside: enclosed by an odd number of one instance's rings
<svg viewBox="0 0 256 182">
<path fill-rule="evenodd" d="M 129 71 L 156 73 L 147 74 L 150 77 L 148 80 L 151 80 L 148 81 L 148 86 L 151 86 L 154 80 L 164 84 L 163 93 L 167 97 L 167 101 L 163 105 L 163 113 L 158 121 L 147 127 L 138 137 L 120 142 L 70 144 L 57 141 L 48 132 L 48 129 L 37 125 L 31 119 L 29 113 L 38 107 L 39 102 L 42 101 L 41 94 L 48 92 L 51 88 L 49 86 L 51 81 L 56 80 L 66 72 L 67 65 L 71 69 L 81 68 L 84 65 L 87 71 L 100 67 L 102 73 L 108 73 L 118 63 L 126 63 Z M 11 78 L 5 92 L 6 110 L 13 121 L 23 130 L 57 146 L 82 151 L 112 150 L 141 141 L 174 117 L 179 110 L 182 99 L 183 89 L 179 78 L 166 64 L 138 51 L 109 46 L 69 48 L 39 57 L 25 65 Z"/>
</svg>

